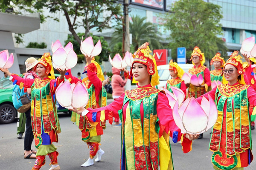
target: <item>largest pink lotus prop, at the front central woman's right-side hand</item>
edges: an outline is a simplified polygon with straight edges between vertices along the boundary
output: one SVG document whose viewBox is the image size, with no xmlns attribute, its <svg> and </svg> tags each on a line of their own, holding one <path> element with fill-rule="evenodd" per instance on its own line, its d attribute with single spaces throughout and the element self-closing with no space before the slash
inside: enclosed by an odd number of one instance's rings
<svg viewBox="0 0 256 170">
<path fill-rule="evenodd" d="M 177 101 L 173 108 L 173 118 L 182 133 L 206 132 L 215 124 L 217 116 L 217 107 L 210 96 L 209 101 L 203 97 L 201 105 L 192 97 L 187 98 L 180 107 Z"/>
</svg>

